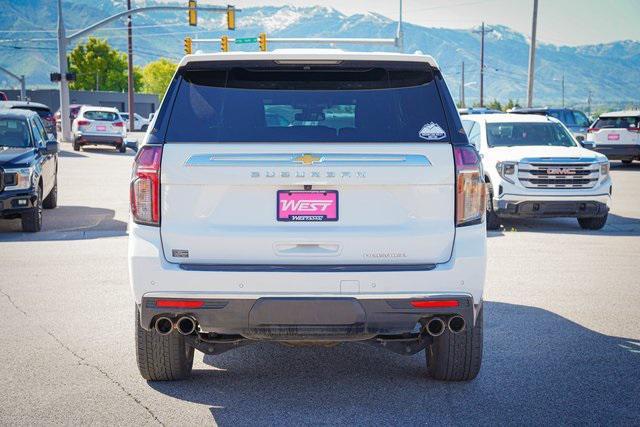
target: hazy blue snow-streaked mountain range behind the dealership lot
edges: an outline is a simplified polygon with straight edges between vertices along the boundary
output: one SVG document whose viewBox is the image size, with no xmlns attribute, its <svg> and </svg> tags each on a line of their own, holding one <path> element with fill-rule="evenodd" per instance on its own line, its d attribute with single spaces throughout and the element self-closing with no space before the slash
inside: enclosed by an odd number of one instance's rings
<svg viewBox="0 0 640 427">
<path fill-rule="evenodd" d="M 183 5 L 138 0 L 136 6 Z M 202 2 L 201 2 L 202 3 Z M 124 10 L 125 0 L 67 0 L 63 2 L 67 34 Z M 24 74 L 30 86 L 51 86 L 49 73 L 57 66 L 56 2 L 52 0 L 0 0 L 0 65 Z M 407 17 L 410 19 L 411 17 Z M 229 32 L 223 14 L 200 11 L 198 26 L 187 25 L 186 12 L 160 11 L 135 15 L 134 61 L 136 64 L 166 57 L 179 60 L 183 38 L 215 38 L 223 34 L 255 37 L 264 31 L 272 37 L 393 37 L 396 21 L 375 12 L 345 15 L 324 7 L 264 6 L 244 8 L 237 15 L 237 30 Z M 440 64 L 454 98 L 459 97 L 461 64 L 465 63 L 467 104 L 478 100 L 480 35 L 468 30 L 404 24 L 405 52 L 421 51 Z M 124 20 L 109 24 L 96 36 L 126 50 Z M 274 46 L 269 46 L 274 48 Z M 277 47 L 295 47 L 278 45 Z M 327 47 L 327 46 L 318 46 Z M 346 50 L 395 50 L 392 46 L 338 46 Z M 199 46 L 218 51 L 218 44 Z M 232 49 L 237 48 L 231 46 Z M 244 45 L 243 50 L 257 49 Z M 525 35 L 506 26 L 491 27 L 485 40 L 485 102 L 507 99 L 523 103 L 526 98 L 529 43 Z M 589 96 L 594 105 L 625 107 L 640 104 L 640 42 L 618 41 L 588 46 L 538 44 L 535 103 L 558 105 L 565 83 L 567 105 L 584 107 Z M 13 82 L 0 76 L 0 87 Z"/>
</svg>

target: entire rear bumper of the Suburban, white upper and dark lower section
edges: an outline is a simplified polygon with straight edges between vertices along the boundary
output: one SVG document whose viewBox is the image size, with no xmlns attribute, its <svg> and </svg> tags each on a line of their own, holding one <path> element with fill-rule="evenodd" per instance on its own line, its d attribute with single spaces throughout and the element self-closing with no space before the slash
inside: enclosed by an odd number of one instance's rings
<svg viewBox="0 0 640 427">
<path fill-rule="evenodd" d="M 150 328 L 160 314 L 191 313 L 207 332 L 256 339 L 367 339 L 411 332 L 420 318 L 433 314 L 472 319 L 470 313 L 482 301 L 486 227 L 482 223 L 456 229 L 451 259 L 430 269 L 384 270 L 374 264 L 375 269 L 349 271 L 253 271 L 228 265 L 187 270 L 164 258 L 157 227 L 135 223 L 129 224 L 128 258 L 143 327 Z M 460 300 L 457 308 L 415 309 L 409 304 L 450 298 Z M 198 299 L 205 307 L 217 308 L 167 311 L 155 306 L 157 299 Z M 288 329 L 291 334 L 282 332 Z"/>
</svg>

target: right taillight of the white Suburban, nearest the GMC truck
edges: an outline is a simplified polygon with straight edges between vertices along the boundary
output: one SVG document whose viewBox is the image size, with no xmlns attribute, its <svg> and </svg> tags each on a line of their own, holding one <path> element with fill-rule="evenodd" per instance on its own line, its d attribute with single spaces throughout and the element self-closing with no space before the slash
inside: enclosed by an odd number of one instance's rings
<svg viewBox="0 0 640 427">
<path fill-rule="evenodd" d="M 486 188 L 482 164 L 471 146 L 454 147 L 456 162 L 456 226 L 482 222 L 486 210 Z"/>
</svg>

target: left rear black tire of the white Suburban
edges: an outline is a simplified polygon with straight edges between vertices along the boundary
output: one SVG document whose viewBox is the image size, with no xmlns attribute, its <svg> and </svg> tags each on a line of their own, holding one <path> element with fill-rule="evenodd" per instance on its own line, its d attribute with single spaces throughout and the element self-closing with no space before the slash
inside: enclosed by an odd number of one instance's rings
<svg viewBox="0 0 640 427">
<path fill-rule="evenodd" d="M 147 381 L 175 381 L 191 376 L 193 347 L 177 332 L 160 335 L 140 326 L 136 307 L 136 360 L 140 375 Z"/>
</svg>

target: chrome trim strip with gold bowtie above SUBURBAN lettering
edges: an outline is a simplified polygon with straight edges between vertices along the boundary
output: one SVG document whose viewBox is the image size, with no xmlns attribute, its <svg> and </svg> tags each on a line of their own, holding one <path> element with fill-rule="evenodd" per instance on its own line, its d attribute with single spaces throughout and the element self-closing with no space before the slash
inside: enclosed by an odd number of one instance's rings
<svg viewBox="0 0 640 427">
<path fill-rule="evenodd" d="M 295 154 L 194 154 L 184 163 L 185 166 L 280 166 L 280 167 L 325 167 L 325 166 L 432 166 L 426 156 L 420 154 L 313 154 L 320 160 L 305 165 L 296 159 L 304 153 Z"/>
</svg>

